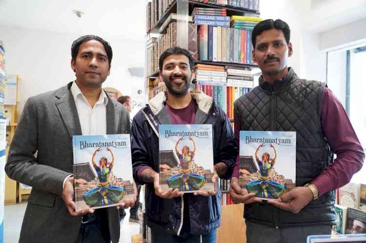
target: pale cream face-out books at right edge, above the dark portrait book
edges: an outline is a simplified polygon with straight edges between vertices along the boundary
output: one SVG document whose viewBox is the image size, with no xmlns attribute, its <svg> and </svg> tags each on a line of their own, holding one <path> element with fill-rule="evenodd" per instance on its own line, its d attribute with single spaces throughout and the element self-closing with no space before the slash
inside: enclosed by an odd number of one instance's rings
<svg viewBox="0 0 366 243">
<path fill-rule="evenodd" d="M 366 185 L 350 182 L 337 190 L 337 204 L 366 212 Z"/>
</svg>

